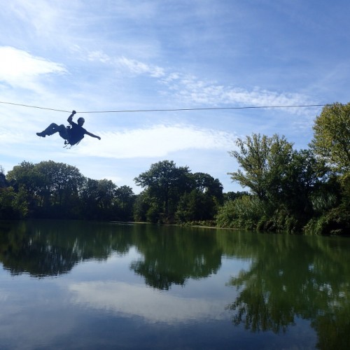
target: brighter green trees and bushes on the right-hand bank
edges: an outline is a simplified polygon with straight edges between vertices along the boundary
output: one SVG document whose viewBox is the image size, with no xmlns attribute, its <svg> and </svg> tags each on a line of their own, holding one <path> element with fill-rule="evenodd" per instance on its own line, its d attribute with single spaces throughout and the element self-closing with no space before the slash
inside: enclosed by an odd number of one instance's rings
<svg viewBox="0 0 350 350">
<path fill-rule="evenodd" d="M 324 107 L 309 146 L 295 151 L 278 135 L 238 139 L 230 155 L 241 169 L 230 175 L 251 193 L 226 201 L 218 225 L 349 235 L 350 104 Z"/>
</svg>

